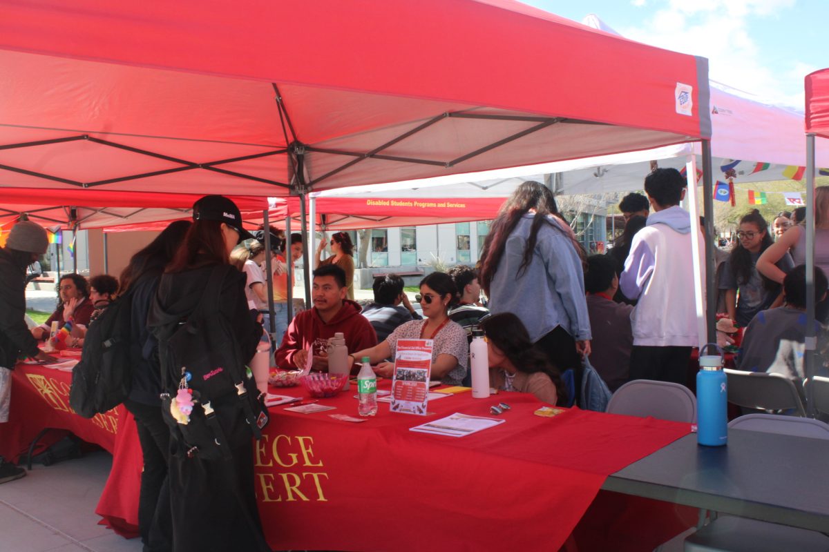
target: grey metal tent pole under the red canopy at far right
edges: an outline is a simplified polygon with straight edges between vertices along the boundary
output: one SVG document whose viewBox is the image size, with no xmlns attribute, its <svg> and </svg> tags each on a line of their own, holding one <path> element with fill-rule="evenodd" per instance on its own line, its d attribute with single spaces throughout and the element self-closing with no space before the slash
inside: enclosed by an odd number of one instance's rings
<svg viewBox="0 0 829 552">
<path fill-rule="evenodd" d="M 806 135 L 806 351 L 804 372 L 809 382 L 815 375 L 815 135 Z M 807 415 L 815 415 L 814 386 L 806 386 Z"/>
</svg>

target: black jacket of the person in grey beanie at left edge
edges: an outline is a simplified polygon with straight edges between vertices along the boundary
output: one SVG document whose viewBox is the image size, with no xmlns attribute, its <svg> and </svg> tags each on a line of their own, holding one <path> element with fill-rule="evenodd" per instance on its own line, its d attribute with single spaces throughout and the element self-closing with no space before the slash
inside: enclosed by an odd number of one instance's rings
<svg viewBox="0 0 829 552">
<path fill-rule="evenodd" d="M 26 316 L 26 266 L 15 262 L 12 252 L 0 248 L 0 366 L 12 370 L 17 356 L 38 353 L 23 317 Z"/>
</svg>

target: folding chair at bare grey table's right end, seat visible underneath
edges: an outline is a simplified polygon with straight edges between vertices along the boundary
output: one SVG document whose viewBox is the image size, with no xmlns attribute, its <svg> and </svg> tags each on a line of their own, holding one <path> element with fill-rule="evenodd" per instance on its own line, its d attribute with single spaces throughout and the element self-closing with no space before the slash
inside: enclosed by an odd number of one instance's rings
<svg viewBox="0 0 829 552">
<path fill-rule="evenodd" d="M 730 384 L 730 380 L 729 380 Z M 729 423 L 730 429 L 766 431 L 829 439 L 829 425 L 811 418 L 773 414 L 748 414 Z M 738 516 L 719 516 L 696 530 L 685 540 L 685 552 L 826 552 L 829 536 L 797 527 L 750 520 Z"/>
</svg>

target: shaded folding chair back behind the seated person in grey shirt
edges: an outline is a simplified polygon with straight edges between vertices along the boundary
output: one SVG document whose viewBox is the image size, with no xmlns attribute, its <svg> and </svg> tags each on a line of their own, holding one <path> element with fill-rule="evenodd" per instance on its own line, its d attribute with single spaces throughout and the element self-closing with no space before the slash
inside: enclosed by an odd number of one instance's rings
<svg viewBox="0 0 829 552">
<path fill-rule="evenodd" d="M 737 406 L 759 410 L 793 410 L 805 416 L 806 410 L 792 380 L 781 374 L 744 372 L 725 368 L 728 400 Z"/>
</svg>

